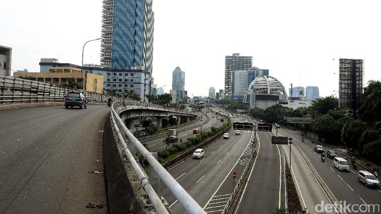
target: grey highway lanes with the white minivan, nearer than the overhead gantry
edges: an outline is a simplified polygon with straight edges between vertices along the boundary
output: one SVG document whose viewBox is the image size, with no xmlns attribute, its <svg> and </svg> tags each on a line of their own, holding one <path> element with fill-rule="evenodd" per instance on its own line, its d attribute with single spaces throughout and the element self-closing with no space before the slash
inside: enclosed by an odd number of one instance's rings
<svg viewBox="0 0 381 214">
<path fill-rule="evenodd" d="M 189 158 L 169 170 L 169 173 L 208 213 L 221 213 L 233 192 L 233 172 L 237 178 L 242 174 L 252 153 L 250 139 L 253 131 L 220 139 L 205 148 L 205 157 Z M 173 214 L 184 214 L 186 210 L 162 182 L 162 195 L 169 203 Z"/>
</svg>

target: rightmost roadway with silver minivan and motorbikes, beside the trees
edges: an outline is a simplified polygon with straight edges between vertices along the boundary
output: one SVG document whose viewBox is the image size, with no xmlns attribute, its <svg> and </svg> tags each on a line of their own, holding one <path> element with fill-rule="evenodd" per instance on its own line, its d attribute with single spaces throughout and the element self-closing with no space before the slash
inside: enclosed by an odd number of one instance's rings
<svg viewBox="0 0 381 214">
<path fill-rule="evenodd" d="M 278 134 L 291 136 L 294 139 L 294 145 L 298 146 L 308 157 L 318 175 L 324 180 L 325 184 L 336 197 L 337 201 L 342 205 L 341 207 L 343 209 L 345 207 L 344 203 L 346 205 L 357 205 L 349 206 L 349 209 L 358 209 L 358 206 L 361 205 L 361 208 L 365 208 L 366 205 L 377 205 L 379 208 L 381 207 L 381 191 L 379 189 L 367 188 L 364 184 L 357 181 L 357 172 L 363 170 L 360 166 L 358 166 L 358 170 L 355 170 L 350 166 L 349 172 L 339 171 L 333 167 L 332 159 L 326 158 L 325 162 L 320 160 L 320 154 L 317 154 L 314 151 L 315 144 L 318 143 L 316 140 L 313 144 L 309 137 L 305 137 L 304 142 L 301 142 L 300 132 L 283 128 L 278 129 Z M 318 144 L 325 147 L 325 153 L 327 150 L 334 150 L 339 156 L 344 157 L 341 150 L 333 147 L 326 147 L 321 143 Z M 311 209 L 315 208 L 310 207 L 309 211 L 311 211 Z M 349 213 L 348 210 L 346 210 L 346 212 Z M 365 213 L 380 213 L 380 210 L 376 209 L 375 212 L 369 210 Z"/>
</svg>

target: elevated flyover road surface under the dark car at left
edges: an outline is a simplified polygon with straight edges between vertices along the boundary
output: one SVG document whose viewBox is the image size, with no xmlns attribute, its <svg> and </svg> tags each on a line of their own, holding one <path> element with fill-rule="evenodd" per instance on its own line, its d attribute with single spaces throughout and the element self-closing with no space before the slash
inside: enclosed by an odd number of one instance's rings
<svg viewBox="0 0 381 214">
<path fill-rule="evenodd" d="M 106 213 L 102 136 L 110 108 L 0 111 L 0 213 Z M 88 209 L 88 203 L 103 209 Z"/>
</svg>

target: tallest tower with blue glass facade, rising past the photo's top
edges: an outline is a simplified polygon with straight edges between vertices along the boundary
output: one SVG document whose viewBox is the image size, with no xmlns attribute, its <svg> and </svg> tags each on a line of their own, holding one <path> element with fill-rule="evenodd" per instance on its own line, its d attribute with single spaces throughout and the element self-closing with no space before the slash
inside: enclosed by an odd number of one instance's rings
<svg viewBox="0 0 381 214">
<path fill-rule="evenodd" d="M 143 68 L 152 77 L 152 0 L 103 0 L 101 64 L 111 69 Z"/>
</svg>

